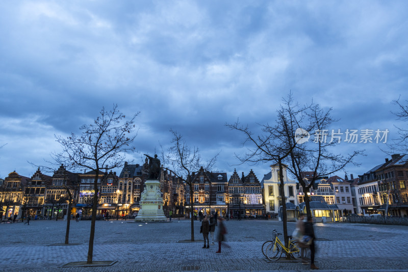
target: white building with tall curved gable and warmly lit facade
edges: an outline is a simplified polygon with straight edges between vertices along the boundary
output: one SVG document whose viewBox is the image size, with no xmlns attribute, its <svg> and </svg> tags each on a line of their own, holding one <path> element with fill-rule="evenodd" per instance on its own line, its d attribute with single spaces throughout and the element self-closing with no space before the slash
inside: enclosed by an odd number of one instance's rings
<svg viewBox="0 0 408 272">
<path fill-rule="evenodd" d="M 281 181 L 279 180 L 279 165 L 273 164 L 270 167 L 271 171 L 261 181 L 261 188 L 265 212 L 275 215 L 282 205 L 282 196 L 279 190 Z M 286 168 L 287 165 L 283 164 L 285 201 L 297 206 L 296 182 L 288 179 Z"/>
</svg>

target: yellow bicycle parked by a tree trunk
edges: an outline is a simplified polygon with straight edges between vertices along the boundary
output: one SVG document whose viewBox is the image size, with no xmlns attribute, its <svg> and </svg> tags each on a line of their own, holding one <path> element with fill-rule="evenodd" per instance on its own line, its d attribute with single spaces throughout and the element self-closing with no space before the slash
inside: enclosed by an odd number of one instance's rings
<svg viewBox="0 0 408 272">
<path fill-rule="evenodd" d="M 273 230 L 273 241 L 266 248 L 266 257 L 271 261 L 276 261 L 281 258 L 282 253 L 285 252 L 286 255 L 289 254 L 292 258 L 301 260 L 302 256 L 300 256 L 300 248 L 297 245 L 297 241 L 289 240 L 289 248 L 286 248 L 277 237 L 281 234 L 282 233 L 277 233 L 276 230 Z M 289 236 L 289 239 L 292 239 L 292 236 Z"/>
</svg>

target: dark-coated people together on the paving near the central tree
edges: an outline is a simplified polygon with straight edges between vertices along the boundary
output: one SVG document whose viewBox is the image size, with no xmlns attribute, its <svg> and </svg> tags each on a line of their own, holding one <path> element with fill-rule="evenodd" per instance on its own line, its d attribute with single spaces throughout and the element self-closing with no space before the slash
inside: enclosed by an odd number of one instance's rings
<svg viewBox="0 0 408 272">
<path fill-rule="evenodd" d="M 200 211 L 201 212 L 201 211 Z M 210 239 L 209 239 L 209 234 L 211 237 L 211 245 L 214 245 L 214 232 L 215 232 L 215 226 L 218 226 L 217 224 L 217 214 L 212 213 L 210 215 L 210 220 L 207 218 L 207 215 L 202 215 L 202 220 L 201 221 L 201 228 L 200 228 L 200 233 L 202 233 L 202 237 L 204 238 L 204 246 L 202 247 L 203 249 L 209 249 L 210 248 Z M 224 235 L 226 234 L 226 228 L 224 224 L 224 218 L 218 217 L 218 221 L 220 222 L 218 226 L 218 251 L 216 253 L 221 253 L 221 243 L 225 241 Z"/>
</svg>

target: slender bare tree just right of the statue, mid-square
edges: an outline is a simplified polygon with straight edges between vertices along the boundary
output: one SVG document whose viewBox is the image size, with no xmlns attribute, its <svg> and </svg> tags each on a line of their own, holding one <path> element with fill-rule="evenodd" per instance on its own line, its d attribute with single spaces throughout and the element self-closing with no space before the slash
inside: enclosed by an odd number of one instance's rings
<svg viewBox="0 0 408 272">
<path fill-rule="evenodd" d="M 174 131 L 170 130 L 173 135 L 171 140 L 172 146 L 168 149 L 168 154 L 163 156 L 165 162 L 171 167 L 172 173 L 175 177 L 184 181 L 190 189 L 190 214 L 191 214 L 191 241 L 194 241 L 194 197 L 193 197 L 193 173 L 197 172 L 202 166 L 203 169 L 210 171 L 217 160 L 218 154 L 209 159 L 208 161 L 203 161 L 198 152 L 198 147 L 191 147 L 187 144 L 183 136 Z"/>
</svg>

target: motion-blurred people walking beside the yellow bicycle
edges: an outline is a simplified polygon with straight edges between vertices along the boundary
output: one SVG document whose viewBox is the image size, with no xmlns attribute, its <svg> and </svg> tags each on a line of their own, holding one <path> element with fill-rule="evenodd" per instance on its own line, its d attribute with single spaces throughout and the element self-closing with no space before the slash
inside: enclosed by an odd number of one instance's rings
<svg viewBox="0 0 408 272">
<path fill-rule="evenodd" d="M 298 245 L 300 246 L 300 256 L 302 257 L 302 264 L 309 264 L 309 259 L 305 256 L 305 249 L 310 249 L 310 268 L 319 269 L 315 265 L 315 231 L 313 230 L 313 218 L 308 216 L 307 220 L 304 220 L 305 214 L 299 215 L 299 220 L 296 223 L 296 232 Z"/>
</svg>

